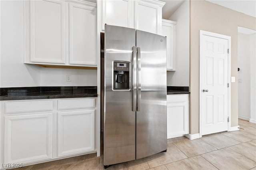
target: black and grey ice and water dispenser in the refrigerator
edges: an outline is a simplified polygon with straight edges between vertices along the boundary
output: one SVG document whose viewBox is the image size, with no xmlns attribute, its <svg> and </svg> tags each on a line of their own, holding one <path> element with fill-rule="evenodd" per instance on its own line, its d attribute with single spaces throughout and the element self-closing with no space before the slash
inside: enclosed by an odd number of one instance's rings
<svg viewBox="0 0 256 170">
<path fill-rule="evenodd" d="M 113 89 L 114 90 L 128 90 L 130 62 L 128 61 L 114 61 L 113 62 Z"/>
</svg>

